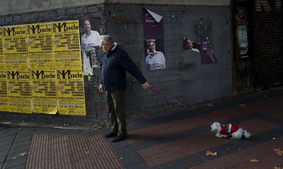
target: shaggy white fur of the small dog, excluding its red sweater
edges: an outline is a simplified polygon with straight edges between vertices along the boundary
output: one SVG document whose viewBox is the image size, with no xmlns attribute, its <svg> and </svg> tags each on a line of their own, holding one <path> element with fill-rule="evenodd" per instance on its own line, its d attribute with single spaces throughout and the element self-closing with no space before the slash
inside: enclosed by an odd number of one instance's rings
<svg viewBox="0 0 283 169">
<path fill-rule="evenodd" d="M 222 137 L 228 137 L 229 134 L 220 134 L 222 131 L 221 124 L 219 122 L 213 122 L 211 125 L 211 131 L 216 132 L 216 137 L 222 138 Z M 231 134 L 232 137 L 230 139 L 241 139 L 242 136 L 245 138 L 250 138 L 251 134 L 250 132 L 247 132 L 247 130 L 243 130 L 241 127 L 239 129 Z"/>
</svg>

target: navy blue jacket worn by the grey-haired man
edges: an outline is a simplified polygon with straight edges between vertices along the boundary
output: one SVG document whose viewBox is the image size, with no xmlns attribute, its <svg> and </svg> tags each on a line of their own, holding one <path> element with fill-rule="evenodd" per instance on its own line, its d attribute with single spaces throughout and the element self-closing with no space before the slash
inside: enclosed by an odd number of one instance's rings
<svg viewBox="0 0 283 169">
<path fill-rule="evenodd" d="M 131 60 L 127 52 L 116 47 L 109 51 L 108 56 L 101 50 L 100 69 L 101 78 L 100 84 L 103 84 L 105 91 L 124 90 L 126 85 L 126 70 L 143 84 L 146 79 L 139 71 L 137 65 Z"/>
</svg>

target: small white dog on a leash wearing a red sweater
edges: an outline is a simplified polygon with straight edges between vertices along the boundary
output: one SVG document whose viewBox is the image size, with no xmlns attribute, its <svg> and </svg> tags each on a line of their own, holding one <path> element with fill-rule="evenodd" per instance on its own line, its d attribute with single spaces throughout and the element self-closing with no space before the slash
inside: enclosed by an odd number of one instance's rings
<svg viewBox="0 0 283 169">
<path fill-rule="evenodd" d="M 216 132 L 216 137 L 228 137 L 229 134 L 232 135 L 230 139 L 241 139 L 243 136 L 245 138 L 250 138 L 250 132 L 243 130 L 236 124 L 220 124 L 219 122 L 213 122 L 211 125 L 211 131 Z"/>
</svg>

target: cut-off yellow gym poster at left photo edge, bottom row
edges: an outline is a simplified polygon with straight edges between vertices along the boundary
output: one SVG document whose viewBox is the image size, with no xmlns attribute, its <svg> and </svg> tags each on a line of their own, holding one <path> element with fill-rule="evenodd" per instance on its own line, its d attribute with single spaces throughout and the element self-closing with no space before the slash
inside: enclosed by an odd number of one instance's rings
<svg viewBox="0 0 283 169">
<path fill-rule="evenodd" d="M 8 112 L 7 73 L 0 70 L 0 111 Z"/>
</svg>

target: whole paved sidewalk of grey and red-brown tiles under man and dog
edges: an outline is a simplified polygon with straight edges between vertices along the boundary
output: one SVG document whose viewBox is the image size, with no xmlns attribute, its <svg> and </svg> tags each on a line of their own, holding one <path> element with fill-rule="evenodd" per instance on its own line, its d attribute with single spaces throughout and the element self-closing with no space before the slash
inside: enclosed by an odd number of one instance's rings
<svg viewBox="0 0 283 169">
<path fill-rule="evenodd" d="M 128 138 L 116 143 L 103 137 L 111 130 L 106 127 L 2 121 L 0 168 L 283 167 L 283 156 L 273 150 L 283 150 L 282 103 L 283 90 L 266 90 L 195 105 L 199 114 L 184 108 L 128 119 Z M 218 139 L 211 121 L 200 114 L 238 124 L 252 136 Z M 207 156 L 207 151 L 217 155 Z"/>
</svg>

